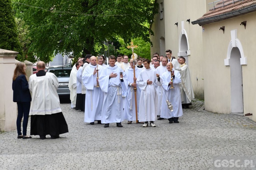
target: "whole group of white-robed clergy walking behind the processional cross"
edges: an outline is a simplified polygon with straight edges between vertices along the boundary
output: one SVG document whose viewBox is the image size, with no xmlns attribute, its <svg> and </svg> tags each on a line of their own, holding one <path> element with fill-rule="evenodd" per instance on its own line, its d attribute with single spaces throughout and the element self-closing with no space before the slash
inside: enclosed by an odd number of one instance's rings
<svg viewBox="0 0 256 170">
<path fill-rule="evenodd" d="M 156 127 L 157 116 L 158 120 L 179 123 L 182 107 L 188 108 L 194 98 L 185 58 L 176 60 L 171 50 L 166 50 L 165 57 L 154 53 L 151 61 L 134 55 L 130 61 L 127 55 L 110 55 L 109 65 L 104 64 L 103 55 L 79 58 L 70 74 L 69 89 L 71 108 L 84 111 L 84 122 L 93 125 L 97 120 L 104 128 L 110 123 L 123 127 L 123 120 L 128 124 L 136 121 L 137 105 L 142 127 Z M 171 102 L 173 111 L 166 101 Z"/>
</svg>

